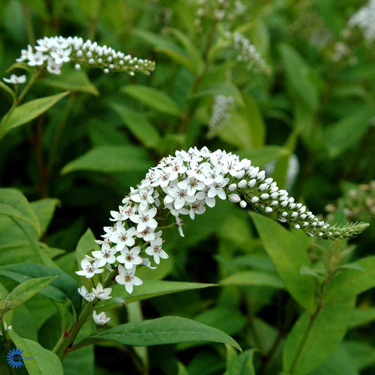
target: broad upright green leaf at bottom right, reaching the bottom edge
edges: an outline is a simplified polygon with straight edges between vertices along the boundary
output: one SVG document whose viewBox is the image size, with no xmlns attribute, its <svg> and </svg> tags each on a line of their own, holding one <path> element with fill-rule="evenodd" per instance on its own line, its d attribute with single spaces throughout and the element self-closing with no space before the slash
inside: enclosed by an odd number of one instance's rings
<svg viewBox="0 0 375 375">
<path fill-rule="evenodd" d="M 345 336 L 354 305 L 355 298 L 350 298 L 324 306 L 315 319 L 303 312 L 286 338 L 283 370 L 310 374 L 333 354 Z"/>
</svg>

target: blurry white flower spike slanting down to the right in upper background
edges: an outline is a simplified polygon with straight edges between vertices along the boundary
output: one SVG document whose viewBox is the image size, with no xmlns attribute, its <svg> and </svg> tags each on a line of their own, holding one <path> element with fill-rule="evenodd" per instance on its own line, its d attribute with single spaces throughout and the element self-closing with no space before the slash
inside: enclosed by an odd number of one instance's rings
<svg viewBox="0 0 375 375">
<path fill-rule="evenodd" d="M 239 51 L 237 61 L 246 63 L 246 68 L 248 70 L 262 72 L 265 75 L 271 74 L 271 68 L 269 65 L 267 65 L 255 46 L 251 44 L 250 39 L 246 38 L 239 32 L 235 32 L 233 36 L 228 33 L 227 36 L 229 36 L 229 38 L 233 38 L 234 48 Z"/>
</svg>

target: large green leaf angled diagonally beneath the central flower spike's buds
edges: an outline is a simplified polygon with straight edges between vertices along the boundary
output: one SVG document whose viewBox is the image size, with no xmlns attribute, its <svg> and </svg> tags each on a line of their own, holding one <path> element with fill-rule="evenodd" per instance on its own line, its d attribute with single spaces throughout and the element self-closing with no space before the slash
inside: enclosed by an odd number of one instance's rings
<svg viewBox="0 0 375 375">
<path fill-rule="evenodd" d="M 277 273 L 291 296 L 306 310 L 314 310 L 315 282 L 300 274 L 303 265 L 311 266 L 305 247 L 295 239 L 291 232 L 280 224 L 258 213 L 251 217 L 258 229 L 260 239 L 269 257 L 274 263 Z"/>
</svg>

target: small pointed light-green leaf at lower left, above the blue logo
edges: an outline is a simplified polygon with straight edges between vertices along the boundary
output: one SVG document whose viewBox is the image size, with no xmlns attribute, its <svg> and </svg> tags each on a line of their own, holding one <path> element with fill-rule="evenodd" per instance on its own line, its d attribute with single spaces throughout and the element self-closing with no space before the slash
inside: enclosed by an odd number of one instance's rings
<svg viewBox="0 0 375 375">
<path fill-rule="evenodd" d="M 34 295 L 42 291 L 47 285 L 56 279 L 56 276 L 52 277 L 39 277 L 37 279 L 30 279 L 23 281 L 23 283 L 16 286 L 11 293 L 9 293 L 6 300 L 5 311 L 13 310 L 16 307 L 23 305 L 27 300 L 30 300 Z"/>
</svg>

